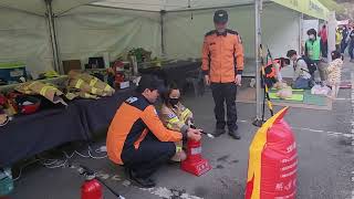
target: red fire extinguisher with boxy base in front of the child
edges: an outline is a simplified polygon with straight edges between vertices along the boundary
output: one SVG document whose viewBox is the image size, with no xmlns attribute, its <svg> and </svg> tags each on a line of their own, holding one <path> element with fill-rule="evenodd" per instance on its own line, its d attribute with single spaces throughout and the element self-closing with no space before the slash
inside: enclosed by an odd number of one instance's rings
<svg viewBox="0 0 354 199">
<path fill-rule="evenodd" d="M 187 159 L 181 161 L 181 169 L 196 176 L 211 169 L 209 161 L 201 157 L 201 142 L 187 142 Z"/>
</svg>

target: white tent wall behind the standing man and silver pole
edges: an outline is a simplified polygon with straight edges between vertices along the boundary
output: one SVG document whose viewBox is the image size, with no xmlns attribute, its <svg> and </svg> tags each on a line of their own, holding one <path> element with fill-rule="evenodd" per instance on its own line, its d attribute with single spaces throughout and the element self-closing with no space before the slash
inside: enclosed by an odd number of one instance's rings
<svg viewBox="0 0 354 199">
<path fill-rule="evenodd" d="M 229 28 L 242 38 L 244 54 L 254 56 L 254 11 L 252 6 L 226 9 Z M 165 19 L 166 53 L 169 57 L 200 57 L 204 34 L 214 30 L 215 10 L 167 12 Z M 267 4 L 263 12 L 263 43 L 275 56 L 289 49 L 299 49 L 300 14 L 278 4 Z"/>
</svg>

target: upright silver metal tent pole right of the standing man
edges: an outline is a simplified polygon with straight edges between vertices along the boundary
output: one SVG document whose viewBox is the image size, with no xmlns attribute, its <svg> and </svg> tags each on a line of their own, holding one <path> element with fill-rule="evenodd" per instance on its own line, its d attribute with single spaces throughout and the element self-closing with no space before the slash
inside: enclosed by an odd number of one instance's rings
<svg viewBox="0 0 354 199">
<path fill-rule="evenodd" d="M 260 54 L 260 45 L 262 43 L 262 28 L 261 28 L 261 13 L 262 13 L 263 4 L 262 0 L 254 0 L 254 19 L 256 19 L 256 27 L 254 27 L 254 56 L 256 56 L 256 119 L 253 122 L 253 125 L 261 126 L 262 125 L 262 118 L 261 118 L 261 112 L 262 112 L 262 94 L 261 94 L 261 60 L 260 57 L 262 54 Z"/>
</svg>

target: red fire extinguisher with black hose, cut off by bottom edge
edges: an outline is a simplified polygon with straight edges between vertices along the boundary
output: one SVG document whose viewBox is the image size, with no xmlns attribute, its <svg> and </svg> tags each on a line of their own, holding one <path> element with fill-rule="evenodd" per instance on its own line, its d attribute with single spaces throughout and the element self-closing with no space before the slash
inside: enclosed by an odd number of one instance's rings
<svg viewBox="0 0 354 199">
<path fill-rule="evenodd" d="M 87 167 L 80 166 L 79 171 L 81 175 L 85 176 L 85 181 L 81 186 L 81 199 L 103 199 L 102 185 L 104 185 L 117 198 L 124 199 L 124 197 L 122 197 L 119 193 L 115 192 L 103 180 L 97 178 L 93 170 L 88 169 Z"/>
</svg>

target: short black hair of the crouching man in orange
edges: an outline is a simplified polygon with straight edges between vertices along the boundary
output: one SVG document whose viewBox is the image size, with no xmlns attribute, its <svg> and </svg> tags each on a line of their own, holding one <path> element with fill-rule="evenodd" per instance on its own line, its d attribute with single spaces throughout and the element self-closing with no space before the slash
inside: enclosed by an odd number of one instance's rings
<svg viewBox="0 0 354 199">
<path fill-rule="evenodd" d="M 140 77 L 136 91 L 138 93 L 143 93 L 146 88 L 150 91 L 157 90 L 159 93 L 164 93 L 166 91 L 164 81 L 154 75 L 143 75 Z"/>
</svg>

